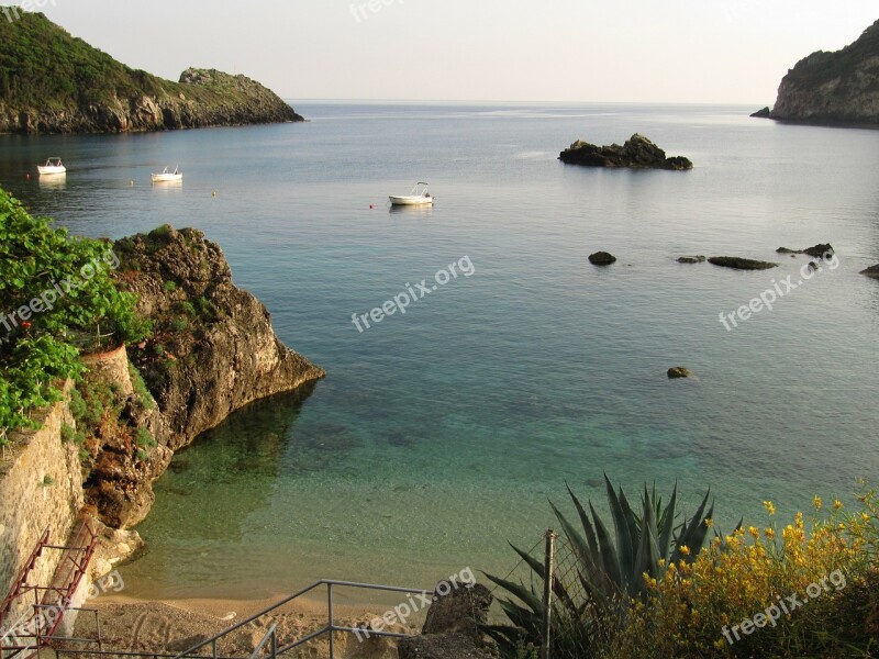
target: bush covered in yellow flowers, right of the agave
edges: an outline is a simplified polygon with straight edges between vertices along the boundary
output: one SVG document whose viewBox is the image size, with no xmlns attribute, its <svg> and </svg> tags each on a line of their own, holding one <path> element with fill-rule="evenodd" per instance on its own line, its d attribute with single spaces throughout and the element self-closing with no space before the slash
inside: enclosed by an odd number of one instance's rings
<svg viewBox="0 0 879 659">
<path fill-rule="evenodd" d="M 634 602 L 610 657 L 874 657 L 879 651 L 875 491 L 806 523 L 747 526 L 669 565 Z M 776 509 L 764 506 L 769 516 Z"/>
</svg>

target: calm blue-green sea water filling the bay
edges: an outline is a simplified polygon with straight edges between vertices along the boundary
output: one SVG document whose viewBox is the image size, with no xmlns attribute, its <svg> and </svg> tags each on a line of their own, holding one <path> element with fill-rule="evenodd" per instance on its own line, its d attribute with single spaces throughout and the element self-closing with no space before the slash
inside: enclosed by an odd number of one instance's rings
<svg viewBox="0 0 879 659">
<path fill-rule="evenodd" d="M 298 103 L 311 121 L 154 135 L 0 137 L 0 185 L 73 232 L 170 222 L 220 243 L 282 340 L 327 370 L 305 400 L 233 415 L 180 453 L 123 570 L 134 596 L 256 597 L 321 577 L 424 587 L 515 563 L 565 483 L 602 472 L 716 518 L 764 520 L 879 480 L 879 131 L 752 108 Z M 576 138 L 642 132 L 690 172 L 566 167 Z M 62 156 L 51 185 L 24 172 Z M 181 187 L 148 174 L 183 169 Z M 431 210 L 387 194 L 431 183 Z M 133 181 L 133 185 L 132 185 Z M 212 196 L 215 192 L 215 197 Z M 370 209 L 370 204 L 375 208 Z M 825 269 L 733 332 L 721 312 L 831 242 Z M 587 256 L 607 249 L 607 269 Z M 763 272 L 683 254 L 781 261 Z M 353 313 L 468 257 L 358 333 Z M 675 365 L 696 381 L 668 381 Z"/>
</svg>

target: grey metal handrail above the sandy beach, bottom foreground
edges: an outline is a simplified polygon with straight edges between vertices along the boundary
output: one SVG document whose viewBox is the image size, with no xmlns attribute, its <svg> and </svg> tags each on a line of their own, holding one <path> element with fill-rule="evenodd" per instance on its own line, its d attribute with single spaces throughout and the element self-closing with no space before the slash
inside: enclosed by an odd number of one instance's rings
<svg viewBox="0 0 879 659">
<path fill-rule="evenodd" d="M 304 645 L 315 638 L 319 638 L 324 635 L 329 635 L 329 644 L 330 644 L 330 659 L 335 659 L 335 640 L 333 635 L 336 632 L 344 632 L 347 634 L 366 634 L 367 637 L 369 636 L 386 636 L 386 637 L 393 637 L 393 638 L 407 638 L 409 634 L 401 634 L 398 632 L 385 632 L 380 629 L 369 629 L 366 627 L 346 627 L 343 625 L 337 625 L 335 621 L 335 610 L 333 603 L 333 589 L 334 588 L 352 588 L 352 589 L 361 589 L 361 590 L 375 590 L 375 591 L 383 591 L 383 592 L 391 592 L 391 593 L 407 593 L 407 594 L 422 594 L 425 596 L 433 595 L 433 590 L 429 589 L 416 589 L 416 588 L 401 588 L 397 585 L 381 585 L 376 583 L 360 583 L 357 581 L 337 581 L 334 579 L 321 579 L 320 581 L 315 581 L 311 585 L 303 588 L 300 591 L 276 602 L 271 606 L 264 608 L 263 611 L 255 613 L 251 617 L 224 629 L 220 634 L 216 634 L 212 638 L 208 638 L 197 645 L 192 646 L 191 648 L 178 654 L 173 655 L 168 652 L 159 652 L 159 651 L 132 651 L 132 650 L 112 650 L 112 649 L 100 649 L 100 650 L 87 650 L 87 649 L 62 649 L 62 648 L 54 648 L 55 651 L 55 659 L 63 659 L 64 657 L 71 657 L 76 659 L 84 659 L 85 657 L 123 657 L 123 658 L 152 658 L 152 659 L 244 659 L 238 657 L 230 657 L 221 655 L 220 652 L 220 645 L 221 641 L 227 637 L 229 635 L 237 632 L 242 627 L 246 627 L 251 623 L 259 619 L 260 617 L 268 615 L 270 613 L 276 612 L 281 606 L 285 606 L 297 600 L 320 589 L 321 587 L 326 587 L 326 618 L 327 623 L 316 632 L 312 632 L 303 636 L 302 638 L 298 638 L 279 647 L 278 643 L 278 632 L 277 632 L 277 623 L 272 623 L 270 627 L 266 630 L 263 640 L 257 645 L 257 647 L 253 650 L 251 655 L 251 659 L 256 659 L 263 650 L 266 649 L 266 646 L 270 648 L 269 652 L 266 655 L 262 655 L 263 657 L 271 657 L 275 659 L 276 657 L 283 655 L 292 650 L 293 648 L 298 648 L 301 645 Z M 57 640 L 73 640 L 73 639 L 58 639 Z M 81 640 L 81 639 L 79 639 Z M 205 651 L 207 650 L 207 651 Z"/>
</svg>

